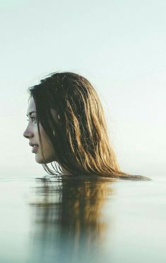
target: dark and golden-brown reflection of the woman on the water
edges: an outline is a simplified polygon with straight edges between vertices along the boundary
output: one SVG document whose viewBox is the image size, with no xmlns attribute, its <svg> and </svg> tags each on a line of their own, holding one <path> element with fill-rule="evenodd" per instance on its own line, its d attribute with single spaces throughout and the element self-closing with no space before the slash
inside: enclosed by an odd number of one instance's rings
<svg viewBox="0 0 166 263">
<path fill-rule="evenodd" d="M 112 182 L 97 178 L 37 181 L 30 202 L 34 262 L 100 262 L 108 223 L 102 208 L 112 194 Z"/>
</svg>

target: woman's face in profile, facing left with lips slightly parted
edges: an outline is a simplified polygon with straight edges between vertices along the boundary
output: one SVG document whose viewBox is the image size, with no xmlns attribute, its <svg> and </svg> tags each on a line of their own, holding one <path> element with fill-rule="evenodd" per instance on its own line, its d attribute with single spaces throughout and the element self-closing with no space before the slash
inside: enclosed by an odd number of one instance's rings
<svg viewBox="0 0 166 263">
<path fill-rule="evenodd" d="M 42 149 L 43 154 L 45 157 L 45 162 L 49 163 L 55 161 L 57 159 L 56 153 L 54 151 L 54 147 L 52 142 L 49 140 L 45 130 L 43 130 L 42 126 L 40 125 L 40 134 L 42 145 L 40 144 L 39 134 L 37 130 L 37 116 L 36 116 L 36 106 L 35 101 L 30 97 L 30 103 L 28 106 L 28 126 L 23 133 L 25 138 L 29 139 L 29 144 L 32 147 L 32 152 L 35 153 L 35 160 L 36 162 L 42 164 L 44 163 L 43 156 L 42 156 Z"/>
</svg>

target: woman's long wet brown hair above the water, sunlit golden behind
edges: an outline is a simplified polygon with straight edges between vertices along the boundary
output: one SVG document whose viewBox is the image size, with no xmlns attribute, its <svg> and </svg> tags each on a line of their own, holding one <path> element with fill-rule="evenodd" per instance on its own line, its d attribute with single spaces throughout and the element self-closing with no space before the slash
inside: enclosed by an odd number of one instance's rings
<svg viewBox="0 0 166 263">
<path fill-rule="evenodd" d="M 35 101 L 39 134 L 40 123 L 61 166 L 72 174 L 141 178 L 120 171 L 100 99 L 87 79 L 71 72 L 53 73 L 29 90 Z M 45 169 L 54 174 L 47 164 Z M 54 169 L 59 172 L 57 165 Z"/>
</svg>

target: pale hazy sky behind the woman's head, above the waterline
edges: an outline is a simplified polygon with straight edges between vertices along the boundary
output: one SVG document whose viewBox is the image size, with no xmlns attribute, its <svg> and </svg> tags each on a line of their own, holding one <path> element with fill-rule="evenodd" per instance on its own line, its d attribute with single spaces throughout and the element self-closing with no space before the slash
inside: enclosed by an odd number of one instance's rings
<svg viewBox="0 0 166 263">
<path fill-rule="evenodd" d="M 121 169 L 165 174 L 165 10 L 165 0 L 0 1 L 1 175 L 45 174 L 22 136 L 27 89 L 64 70 L 95 84 Z"/>
</svg>

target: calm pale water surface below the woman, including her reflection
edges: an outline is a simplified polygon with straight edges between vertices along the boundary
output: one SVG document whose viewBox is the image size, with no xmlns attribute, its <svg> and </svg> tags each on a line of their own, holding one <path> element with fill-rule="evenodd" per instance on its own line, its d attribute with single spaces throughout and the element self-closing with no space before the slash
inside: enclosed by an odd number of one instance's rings
<svg viewBox="0 0 166 263">
<path fill-rule="evenodd" d="M 166 262 L 166 177 L 0 179 L 0 262 Z"/>
</svg>

